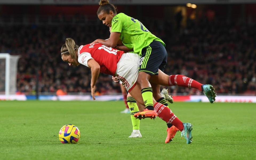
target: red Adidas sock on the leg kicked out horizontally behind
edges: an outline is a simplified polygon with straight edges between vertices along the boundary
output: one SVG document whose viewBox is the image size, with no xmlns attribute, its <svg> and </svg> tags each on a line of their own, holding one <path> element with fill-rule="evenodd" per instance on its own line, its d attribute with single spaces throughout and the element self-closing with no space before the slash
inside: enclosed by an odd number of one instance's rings
<svg viewBox="0 0 256 160">
<path fill-rule="evenodd" d="M 195 81 L 194 79 L 186 77 L 185 75 L 177 74 L 177 75 L 169 76 L 169 86 L 181 86 L 181 87 L 187 87 L 187 88 L 195 88 L 195 89 L 202 91 L 202 85 L 203 84 Z"/>
</svg>

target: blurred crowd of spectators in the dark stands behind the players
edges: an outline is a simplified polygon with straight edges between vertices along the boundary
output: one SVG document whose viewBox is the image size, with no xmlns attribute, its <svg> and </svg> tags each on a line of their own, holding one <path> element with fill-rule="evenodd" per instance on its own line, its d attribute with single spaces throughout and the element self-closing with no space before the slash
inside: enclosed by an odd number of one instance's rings
<svg viewBox="0 0 256 160">
<path fill-rule="evenodd" d="M 185 27 L 172 21 L 143 18 L 149 31 L 166 43 L 165 73 L 182 74 L 203 84 L 212 84 L 217 94 L 256 92 L 256 25 L 200 18 L 187 20 Z M 79 25 L 0 26 L 0 53 L 21 55 L 18 62 L 17 93 L 34 94 L 36 75 L 39 92 L 90 92 L 90 69 L 69 66 L 60 57 L 66 38 L 78 45 L 107 39 L 109 29 L 98 19 Z M 201 94 L 195 89 L 167 87 L 173 95 Z M 111 76 L 101 74 L 99 94 L 121 92 Z"/>
</svg>

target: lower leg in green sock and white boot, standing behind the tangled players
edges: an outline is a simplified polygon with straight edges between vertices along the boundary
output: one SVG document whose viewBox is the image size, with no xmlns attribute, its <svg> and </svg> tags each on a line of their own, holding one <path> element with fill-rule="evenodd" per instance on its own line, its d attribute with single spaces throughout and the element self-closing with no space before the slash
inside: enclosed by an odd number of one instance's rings
<svg viewBox="0 0 256 160">
<path fill-rule="evenodd" d="M 129 106 L 130 112 L 131 112 L 131 123 L 133 125 L 133 131 L 129 138 L 136 138 L 136 137 L 142 137 L 140 131 L 139 131 L 139 119 L 136 119 L 134 117 L 135 113 L 139 112 L 139 108 L 136 104 L 136 100 L 131 97 L 131 95 L 128 93 L 127 95 L 127 104 Z"/>
</svg>

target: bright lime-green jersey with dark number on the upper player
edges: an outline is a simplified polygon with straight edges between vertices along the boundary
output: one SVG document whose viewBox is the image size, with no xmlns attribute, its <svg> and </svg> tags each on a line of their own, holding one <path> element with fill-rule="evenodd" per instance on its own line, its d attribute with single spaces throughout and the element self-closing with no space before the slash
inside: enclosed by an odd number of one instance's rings
<svg viewBox="0 0 256 160">
<path fill-rule="evenodd" d="M 154 40 L 165 46 L 165 43 L 147 30 L 140 21 L 124 13 L 119 13 L 112 19 L 111 32 L 120 32 L 123 44 L 129 49 L 133 48 L 134 52 L 139 55 L 141 55 L 142 49 Z"/>
</svg>

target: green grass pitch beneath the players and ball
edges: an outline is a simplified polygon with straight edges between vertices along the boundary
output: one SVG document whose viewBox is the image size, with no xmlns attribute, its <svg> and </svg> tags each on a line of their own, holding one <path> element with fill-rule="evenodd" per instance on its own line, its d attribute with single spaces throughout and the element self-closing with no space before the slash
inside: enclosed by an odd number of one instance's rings
<svg viewBox="0 0 256 160">
<path fill-rule="evenodd" d="M 253 103 L 169 104 L 183 122 L 193 124 L 187 145 L 177 132 L 165 144 L 166 124 L 142 119 L 142 138 L 132 132 L 122 101 L 2 101 L 0 159 L 255 159 L 256 105 Z M 62 144 L 58 131 L 74 124 L 77 144 Z"/>
</svg>

